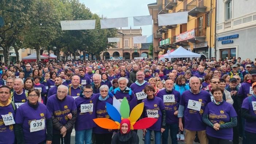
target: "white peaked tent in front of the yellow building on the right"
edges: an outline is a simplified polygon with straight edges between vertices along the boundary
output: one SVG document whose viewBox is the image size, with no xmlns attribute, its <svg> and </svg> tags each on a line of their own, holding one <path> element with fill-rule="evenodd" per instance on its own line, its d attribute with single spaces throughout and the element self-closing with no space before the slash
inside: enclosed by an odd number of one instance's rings
<svg viewBox="0 0 256 144">
<path fill-rule="evenodd" d="M 175 51 L 171 52 L 170 55 L 165 55 L 164 58 L 178 58 L 178 57 L 200 57 L 199 53 L 194 53 L 186 50 L 183 47 L 177 48 Z"/>
</svg>

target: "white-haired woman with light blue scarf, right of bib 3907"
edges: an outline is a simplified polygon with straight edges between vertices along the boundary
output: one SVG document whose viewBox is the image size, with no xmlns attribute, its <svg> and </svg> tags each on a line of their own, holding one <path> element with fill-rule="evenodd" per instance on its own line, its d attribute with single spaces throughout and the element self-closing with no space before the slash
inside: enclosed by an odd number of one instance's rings
<svg viewBox="0 0 256 144">
<path fill-rule="evenodd" d="M 108 113 L 106 112 L 106 103 L 113 104 L 113 99 L 108 95 L 108 86 L 101 85 L 100 96 L 96 104 L 96 117 L 97 118 L 108 118 L 110 119 Z M 113 131 L 112 129 L 104 129 L 96 125 L 93 128 L 93 133 L 96 136 L 97 144 L 111 144 Z"/>
</svg>

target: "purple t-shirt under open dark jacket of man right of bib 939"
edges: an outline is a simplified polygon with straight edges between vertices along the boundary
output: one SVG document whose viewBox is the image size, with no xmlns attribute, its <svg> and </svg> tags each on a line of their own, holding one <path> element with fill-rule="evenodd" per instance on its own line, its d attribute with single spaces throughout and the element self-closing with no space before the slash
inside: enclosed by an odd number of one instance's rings
<svg viewBox="0 0 256 144">
<path fill-rule="evenodd" d="M 50 96 L 46 103 L 51 115 L 54 115 L 63 126 L 69 121 L 67 115 L 77 109 L 73 97 L 67 95 L 64 100 L 59 100 L 57 95 Z M 53 127 L 54 134 L 60 134 L 61 131 Z"/>
</svg>

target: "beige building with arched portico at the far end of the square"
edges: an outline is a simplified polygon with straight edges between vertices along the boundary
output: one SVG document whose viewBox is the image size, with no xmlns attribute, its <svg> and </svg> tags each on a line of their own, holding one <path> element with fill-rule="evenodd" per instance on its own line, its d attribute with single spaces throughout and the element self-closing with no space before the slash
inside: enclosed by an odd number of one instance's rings
<svg viewBox="0 0 256 144">
<path fill-rule="evenodd" d="M 110 57 L 123 57 L 123 59 L 134 59 L 134 57 L 148 57 L 148 49 L 141 49 L 141 44 L 133 44 L 134 36 L 141 36 L 142 29 L 118 29 L 117 37 L 120 42 L 116 43 L 116 47 L 110 47 L 107 51 L 102 52 L 100 58 L 102 60 L 110 59 Z"/>
</svg>

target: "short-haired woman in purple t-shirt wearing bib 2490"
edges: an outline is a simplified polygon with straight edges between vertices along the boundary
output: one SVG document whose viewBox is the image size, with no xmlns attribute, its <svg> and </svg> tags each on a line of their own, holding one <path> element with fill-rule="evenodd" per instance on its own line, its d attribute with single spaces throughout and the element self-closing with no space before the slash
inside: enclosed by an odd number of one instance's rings
<svg viewBox="0 0 256 144">
<path fill-rule="evenodd" d="M 155 144 L 161 143 L 161 133 L 164 132 L 166 126 L 166 111 L 163 100 L 160 97 L 155 97 L 155 88 L 152 85 L 146 85 L 144 92 L 147 94 L 147 99 L 144 99 L 144 109 L 141 117 L 153 117 L 157 118 L 155 124 L 150 128 L 143 129 L 143 135 L 145 136 L 145 144 L 150 144 L 151 132 L 155 133 Z"/>
</svg>

